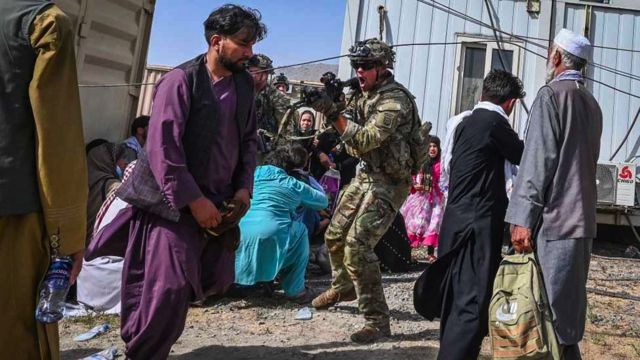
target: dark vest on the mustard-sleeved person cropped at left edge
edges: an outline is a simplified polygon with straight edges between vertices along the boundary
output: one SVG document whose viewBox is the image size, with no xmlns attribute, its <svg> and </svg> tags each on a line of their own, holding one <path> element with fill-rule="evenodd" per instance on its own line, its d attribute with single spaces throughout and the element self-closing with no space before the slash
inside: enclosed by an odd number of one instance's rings
<svg viewBox="0 0 640 360">
<path fill-rule="evenodd" d="M 0 1 L 0 216 L 40 211 L 29 83 L 36 53 L 29 28 L 53 3 Z"/>
</svg>

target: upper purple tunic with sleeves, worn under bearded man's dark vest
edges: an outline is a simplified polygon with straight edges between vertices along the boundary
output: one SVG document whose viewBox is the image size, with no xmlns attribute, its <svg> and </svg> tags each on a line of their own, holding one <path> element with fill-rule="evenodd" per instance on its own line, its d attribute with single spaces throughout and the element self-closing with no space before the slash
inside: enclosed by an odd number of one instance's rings
<svg viewBox="0 0 640 360">
<path fill-rule="evenodd" d="M 219 204 L 235 191 L 253 190 L 256 167 L 256 123 L 254 109 L 244 134 L 236 123 L 236 89 L 231 76 L 212 84 L 220 111 L 216 136 L 211 139 L 211 154 L 206 178 L 194 179 L 185 159 L 182 137 L 189 117 L 191 90 L 186 73 L 175 69 L 156 87 L 145 149 L 151 171 L 171 204 L 181 209 L 201 196 Z M 240 149 L 245 151 L 240 152 Z M 242 156 L 242 157 L 241 157 Z M 238 170 L 236 170 L 238 166 Z"/>
</svg>

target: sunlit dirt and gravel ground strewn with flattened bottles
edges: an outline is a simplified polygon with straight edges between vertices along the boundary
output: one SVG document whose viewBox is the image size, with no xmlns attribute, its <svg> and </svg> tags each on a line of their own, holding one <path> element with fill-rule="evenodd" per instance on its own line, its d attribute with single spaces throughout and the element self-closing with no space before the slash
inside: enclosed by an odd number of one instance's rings
<svg viewBox="0 0 640 360">
<path fill-rule="evenodd" d="M 604 258 L 623 256 L 620 245 L 598 244 L 591 263 L 588 288 L 609 295 L 589 293 L 587 332 L 581 344 L 584 359 L 640 359 L 640 260 Z M 419 272 L 384 275 L 391 310 L 392 338 L 374 345 L 354 345 L 349 335 L 363 319 L 355 302 L 336 309 L 314 312 L 308 321 L 295 320 L 302 306 L 284 300 L 252 296 L 220 299 L 191 308 L 182 337 L 170 359 L 435 359 L 438 323 L 417 315 L 412 304 L 413 283 Z M 313 277 L 308 285 L 324 289 L 328 276 Z M 613 295 L 630 295 L 627 300 Z M 626 295 L 625 295 L 626 294 Z M 171 316 L 167 314 L 166 316 Z M 96 324 L 109 322 L 112 330 L 96 339 L 77 343 L 74 336 Z M 60 326 L 62 359 L 80 359 L 112 345 L 122 351 L 119 319 L 95 316 L 65 320 Z M 489 359 L 485 339 L 481 359 Z"/>
</svg>

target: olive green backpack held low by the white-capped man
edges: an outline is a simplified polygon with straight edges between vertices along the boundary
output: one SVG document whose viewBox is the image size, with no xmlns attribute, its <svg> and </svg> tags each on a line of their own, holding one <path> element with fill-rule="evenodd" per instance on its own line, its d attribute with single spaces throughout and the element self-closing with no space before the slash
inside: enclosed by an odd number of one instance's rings
<svg viewBox="0 0 640 360">
<path fill-rule="evenodd" d="M 489 304 L 489 335 L 494 359 L 561 359 L 533 253 L 502 259 Z"/>
</svg>

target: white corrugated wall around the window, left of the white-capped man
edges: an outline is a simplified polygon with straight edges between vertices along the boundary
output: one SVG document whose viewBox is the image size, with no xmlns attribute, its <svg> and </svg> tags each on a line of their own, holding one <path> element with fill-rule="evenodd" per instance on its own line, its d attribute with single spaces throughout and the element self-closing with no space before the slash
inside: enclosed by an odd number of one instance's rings
<svg viewBox="0 0 640 360">
<path fill-rule="evenodd" d="M 453 9 L 474 18 L 489 22 L 488 13 L 482 0 L 441 0 Z M 349 46 L 356 40 L 378 37 L 379 15 L 377 8 L 384 5 L 388 11 L 385 41 L 391 44 L 455 42 L 458 35 L 469 34 L 493 38 L 491 30 L 449 15 L 444 11 L 420 3 L 417 0 L 349 0 L 345 16 L 345 32 L 341 53 L 348 53 Z M 498 27 L 517 35 L 548 38 L 549 20 L 546 22 L 530 16 L 526 2 L 493 0 L 493 8 L 498 14 Z M 545 5 L 543 11 L 549 11 Z M 347 31 L 348 30 L 348 31 Z M 351 37 L 347 41 L 347 37 Z M 538 50 L 529 46 L 532 50 Z M 409 46 L 396 49 L 396 79 L 407 86 L 416 96 L 423 120 L 433 123 L 437 135 L 444 136 L 446 121 L 453 114 L 454 72 L 457 71 L 456 45 Z M 544 61 L 524 56 L 521 52 L 520 76 L 528 93 L 526 102 L 530 105 L 537 88 L 542 84 L 538 72 L 543 71 Z M 351 76 L 349 61 L 340 62 L 340 77 Z M 518 110 L 521 122 L 523 111 Z"/>
</svg>

